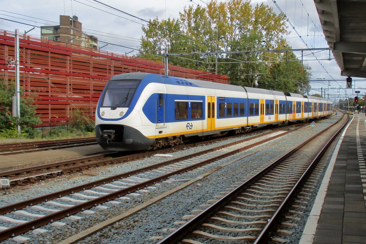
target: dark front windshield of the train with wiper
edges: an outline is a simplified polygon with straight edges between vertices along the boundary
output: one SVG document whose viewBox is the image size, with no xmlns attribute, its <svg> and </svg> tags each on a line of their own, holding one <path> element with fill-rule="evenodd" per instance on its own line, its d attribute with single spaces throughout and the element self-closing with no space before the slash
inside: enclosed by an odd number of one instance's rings
<svg viewBox="0 0 366 244">
<path fill-rule="evenodd" d="M 130 106 L 132 97 L 140 84 L 141 80 L 112 80 L 107 84 L 107 88 L 102 100 L 102 107 Z"/>
</svg>

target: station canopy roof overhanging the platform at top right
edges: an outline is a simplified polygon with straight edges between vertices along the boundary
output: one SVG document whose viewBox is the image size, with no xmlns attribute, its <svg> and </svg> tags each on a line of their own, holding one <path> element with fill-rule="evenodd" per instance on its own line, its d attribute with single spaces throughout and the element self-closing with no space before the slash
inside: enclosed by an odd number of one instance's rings
<svg viewBox="0 0 366 244">
<path fill-rule="evenodd" d="M 342 76 L 366 78 L 365 0 L 314 0 Z"/>
</svg>

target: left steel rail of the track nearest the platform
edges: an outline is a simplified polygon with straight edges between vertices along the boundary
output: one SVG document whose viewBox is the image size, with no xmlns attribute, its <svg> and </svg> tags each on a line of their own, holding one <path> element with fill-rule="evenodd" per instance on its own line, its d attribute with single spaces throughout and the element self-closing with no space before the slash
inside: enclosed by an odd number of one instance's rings
<svg viewBox="0 0 366 244">
<path fill-rule="evenodd" d="M 221 209 L 222 206 L 226 205 L 229 201 L 231 201 L 233 198 L 235 198 L 237 195 L 239 195 L 241 192 L 249 188 L 252 184 L 258 181 L 258 179 L 262 178 L 265 174 L 267 174 L 269 171 L 271 171 L 273 168 L 275 168 L 277 165 L 279 165 L 282 161 L 287 159 L 287 157 L 294 154 L 299 148 L 301 148 L 303 145 L 307 144 L 314 138 L 318 137 L 320 134 L 324 133 L 326 130 L 328 130 L 330 127 L 337 124 L 343 116 L 334 124 L 327 127 L 326 129 L 320 131 L 319 133 L 315 134 L 311 138 L 307 139 L 302 144 L 296 146 L 295 148 L 291 149 L 289 152 L 287 152 L 285 155 L 281 156 L 279 159 L 274 161 L 272 164 L 268 165 L 268 167 L 262 169 L 257 174 L 252 176 L 250 179 L 246 180 L 244 183 L 240 184 L 238 187 L 236 187 L 231 192 L 227 193 L 220 199 L 218 199 L 216 202 L 212 203 L 209 207 L 207 207 L 205 210 L 201 211 L 199 214 L 191 218 L 189 221 L 181 225 L 179 228 L 174 230 L 172 233 L 170 233 L 168 236 L 166 236 L 164 239 L 158 241 L 157 244 L 172 244 L 179 241 L 184 235 L 186 235 L 188 232 L 196 228 L 199 224 L 207 220 L 210 216 L 215 214 L 219 209 Z M 342 126 L 342 128 L 345 125 Z"/>
</svg>

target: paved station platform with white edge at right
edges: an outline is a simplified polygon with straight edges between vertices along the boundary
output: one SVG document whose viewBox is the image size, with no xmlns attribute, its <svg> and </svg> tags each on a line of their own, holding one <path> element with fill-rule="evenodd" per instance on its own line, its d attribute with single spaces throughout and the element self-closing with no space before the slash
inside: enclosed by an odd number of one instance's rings
<svg viewBox="0 0 366 244">
<path fill-rule="evenodd" d="M 300 244 L 366 243 L 366 116 L 351 115 Z"/>
</svg>

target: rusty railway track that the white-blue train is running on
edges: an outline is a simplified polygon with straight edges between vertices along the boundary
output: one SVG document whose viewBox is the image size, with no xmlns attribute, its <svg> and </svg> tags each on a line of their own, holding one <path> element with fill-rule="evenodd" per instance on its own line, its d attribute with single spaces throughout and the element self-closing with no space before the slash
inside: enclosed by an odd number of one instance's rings
<svg viewBox="0 0 366 244">
<path fill-rule="evenodd" d="M 305 123 L 305 125 L 298 125 L 296 128 L 299 129 L 300 127 L 306 126 L 309 123 Z M 281 130 L 286 130 L 291 128 L 292 126 L 285 126 L 282 127 Z M 277 129 L 278 130 L 278 129 Z M 270 129 L 262 131 L 262 133 L 267 133 L 268 131 L 273 131 Z M 257 134 L 258 132 L 252 132 L 248 133 L 246 135 L 250 134 Z M 241 137 L 242 135 L 233 136 L 231 138 L 235 137 Z M 225 138 L 219 138 L 214 140 L 208 140 L 208 141 L 201 141 L 201 142 L 194 142 L 190 144 L 184 144 L 184 145 L 178 145 L 174 148 L 166 148 L 166 149 L 160 149 L 156 151 L 150 151 L 150 152 L 144 152 L 144 153 L 135 153 L 135 154 L 128 154 L 123 156 L 118 156 L 121 153 L 120 152 L 106 152 L 101 153 L 98 155 L 93 156 L 86 156 L 81 157 L 78 159 L 71 159 L 71 160 L 64 160 L 59 161 L 55 163 L 47 163 L 42 165 L 36 165 L 26 168 L 19 168 L 19 169 L 13 169 L 8 171 L 2 171 L 0 172 L 0 178 L 8 178 L 10 179 L 11 186 L 19 186 L 25 183 L 34 183 L 38 180 L 44 180 L 46 178 L 56 177 L 63 174 L 69 174 L 73 172 L 83 172 L 86 169 L 93 168 L 93 167 L 99 167 L 101 165 L 112 165 L 117 163 L 123 163 L 130 160 L 136 160 L 141 159 L 149 156 L 153 156 L 157 153 L 169 153 L 172 150 L 180 150 L 184 148 L 190 148 L 195 147 L 202 144 L 210 144 L 213 142 L 217 142 L 218 140 L 224 140 Z"/>
</svg>

